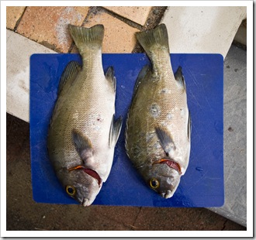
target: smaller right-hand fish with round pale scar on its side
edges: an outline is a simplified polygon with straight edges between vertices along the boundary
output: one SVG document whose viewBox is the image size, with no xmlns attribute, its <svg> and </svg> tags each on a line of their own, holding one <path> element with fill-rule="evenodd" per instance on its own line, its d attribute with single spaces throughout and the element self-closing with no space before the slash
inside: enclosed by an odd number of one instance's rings
<svg viewBox="0 0 256 240">
<path fill-rule="evenodd" d="M 133 166 L 161 197 L 175 194 L 189 166 L 191 117 L 182 67 L 171 67 L 164 24 L 136 33 L 151 64 L 140 70 L 126 118 L 125 147 Z"/>
</svg>

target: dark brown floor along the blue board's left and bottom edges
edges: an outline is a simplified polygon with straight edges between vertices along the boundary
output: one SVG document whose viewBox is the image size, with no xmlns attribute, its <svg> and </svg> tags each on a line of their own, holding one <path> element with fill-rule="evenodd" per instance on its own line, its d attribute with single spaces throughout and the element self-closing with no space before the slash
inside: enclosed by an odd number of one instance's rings
<svg viewBox="0 0 256 240">
<path fill-rule="evenodd" d="M 206 208 L 38 204 L 32 196 L 29 123 L 9 114 L 6 117 L 8 231 L 246 230 Z"/>
</svg>

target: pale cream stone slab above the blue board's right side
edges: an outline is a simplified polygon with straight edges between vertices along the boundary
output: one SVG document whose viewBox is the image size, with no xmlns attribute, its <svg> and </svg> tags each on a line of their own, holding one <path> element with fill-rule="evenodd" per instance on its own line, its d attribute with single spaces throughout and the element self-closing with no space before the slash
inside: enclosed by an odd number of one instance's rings
<svg viewBox="0 0 256 240">
<path fill-rule="evenodd" d="M 171 53 L 220 53 L 226 57 L 247 7 L 169 7 L 161 22 Z M 223 24 L 225 22 L 225 24 Z"/>
</svg>

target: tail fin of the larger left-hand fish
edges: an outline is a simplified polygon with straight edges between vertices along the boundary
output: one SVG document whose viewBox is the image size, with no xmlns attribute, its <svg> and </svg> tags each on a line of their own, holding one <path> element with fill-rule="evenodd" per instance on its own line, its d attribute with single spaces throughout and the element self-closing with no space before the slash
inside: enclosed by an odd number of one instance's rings
<svg viewBox="0 0 256 240">
<path fill-rule="evenodd" d="M 85 27 L 70 24 L 68 28 L 80 53 L 85 50 L 86 46 L 89 48 L 92 48 L 92 46 L 95 48 L 102 48 L 104 36 L 103 25 L 99 24 L 87 29 Z"/>
</svg>

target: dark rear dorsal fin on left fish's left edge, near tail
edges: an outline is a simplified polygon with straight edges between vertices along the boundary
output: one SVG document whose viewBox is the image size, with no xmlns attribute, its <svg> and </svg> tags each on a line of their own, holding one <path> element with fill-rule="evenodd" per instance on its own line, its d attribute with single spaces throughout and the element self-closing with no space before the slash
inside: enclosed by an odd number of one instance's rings
<svg viewBox="0 0 256 240">
<path fill-rule="evenodd" d="M 58 94 L 61 94 L 61 91 L 71 86 L 80 70 L 81 66 L 77 61 L 71 61 L 67 63 L 67 67 L 65 67 L 63 74 L 61 75 Z"/>
</svg>

